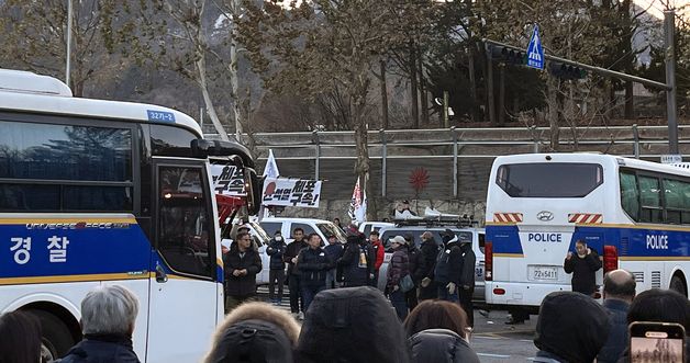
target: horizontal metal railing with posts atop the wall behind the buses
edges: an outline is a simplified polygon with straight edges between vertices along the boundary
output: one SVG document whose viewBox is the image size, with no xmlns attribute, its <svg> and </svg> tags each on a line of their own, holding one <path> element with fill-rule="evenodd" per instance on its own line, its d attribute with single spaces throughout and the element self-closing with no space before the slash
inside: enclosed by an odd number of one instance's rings
<svg viewBox="0 0 690 363">
<path fill-rule="evenodd" d="M 666 126 L 594 126 L 559 129 L 561 151 L 599 151 L 625 157 L 657 159 L 668 154 Z M 575 133 L 575 137 L 574 137 Z M 690 125 L 679 126 L 681 155 L 690 155 Z M 213 138 L 218 135 L 207 135 Z M 387 160 L 452 159 L 453 196 L 458 195 L 460 159 L 487 159 L 501 155 L 549 152 L 548 127 L 379 129 L 368 132 L 369 158 L 381 160 L 381 194 L 386 196 Z M 683 138 L 683 136 L 686 136 Z M 272 149 L 279 160 L 313 160 L 314 178 L 321 162 L 355 160 L 354 132 L 257 133 L 251 135 L 259 160 Z M 246 140 L 246 138 L 244 138 Z"/>
</svg>

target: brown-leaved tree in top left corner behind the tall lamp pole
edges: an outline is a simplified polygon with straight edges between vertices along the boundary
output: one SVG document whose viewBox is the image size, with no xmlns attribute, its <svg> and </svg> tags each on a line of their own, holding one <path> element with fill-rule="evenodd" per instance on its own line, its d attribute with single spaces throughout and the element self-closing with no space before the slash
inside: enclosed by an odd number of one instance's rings
<svg viewBox="0 0 690 363">
<path fill-rule="evenodd" d="M 118 26 L 113 0 L 73 1 L 73 48 L 69 87 L 84 97 L 99 80 L 111 79 L 124 64 L 113 55 L 110 34 Z M 3 67 L 16 67 L 65 79 L 67 1 L 0 2 Z"/>
</svg>

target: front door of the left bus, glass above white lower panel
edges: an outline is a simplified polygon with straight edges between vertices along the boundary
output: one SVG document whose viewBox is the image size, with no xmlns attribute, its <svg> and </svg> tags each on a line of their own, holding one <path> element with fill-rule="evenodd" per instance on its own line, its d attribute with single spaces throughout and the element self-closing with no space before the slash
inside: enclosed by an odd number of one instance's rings
<svg viewBox="0 0 690 363">
<path fill-rule="evenodd" d="M 157 222 L 146 362 L 198 362 L 223 309 L 209 177 L 202 161 L 157 158 L 153 167 Z"/>
</svg>

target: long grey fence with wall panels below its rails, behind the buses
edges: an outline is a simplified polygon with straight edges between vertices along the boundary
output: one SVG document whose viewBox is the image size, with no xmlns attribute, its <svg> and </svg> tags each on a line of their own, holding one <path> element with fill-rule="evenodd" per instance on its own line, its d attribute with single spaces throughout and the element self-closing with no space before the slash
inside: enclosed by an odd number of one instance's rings
<svg viewBox="0 0 690 363">
<path fill-rule="evenodd" d="M 558 151 L 657 161 L 668 152 L 666 126 L 564 127 L 559 133 Z M 549 139 L 547 127 L 371 131 L 368 150 L 374 196 L 483 201 L 497 156 L 549 152 Z M 259 160 L 266 159 L 268 149 L 274 151 L 282 175 L 326 180 L 324 198 L 350 197 L 357 158 L 353 132 L 261 133 L 252 135 L 252 140 Z M 690 125 L 679 127 L 679 146 L 682 155 L 690 155 Z M 422 189 L 412 183 L 415 171 L 429 179 Z"/>
</svg>

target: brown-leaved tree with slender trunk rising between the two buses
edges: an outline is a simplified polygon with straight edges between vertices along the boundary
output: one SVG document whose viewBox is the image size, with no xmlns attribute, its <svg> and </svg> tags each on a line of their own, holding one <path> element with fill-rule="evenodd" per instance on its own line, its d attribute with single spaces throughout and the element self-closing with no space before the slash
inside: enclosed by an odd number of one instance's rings
<svg viewBox="0 0 690 363">
<path fill-rule="evenodd" d="M 367 141 L 372 69 L 400 44 L 394 0 L 314 0 L 285 8 L 279 1 L 247 7 L 242 43 L 266 86 L 316 100 L 337 91 L 355 132 L 355 172 L 371 190 Z M 376 211 L 375 207 L 369 211 Z"/>
</svg>

